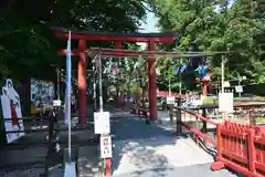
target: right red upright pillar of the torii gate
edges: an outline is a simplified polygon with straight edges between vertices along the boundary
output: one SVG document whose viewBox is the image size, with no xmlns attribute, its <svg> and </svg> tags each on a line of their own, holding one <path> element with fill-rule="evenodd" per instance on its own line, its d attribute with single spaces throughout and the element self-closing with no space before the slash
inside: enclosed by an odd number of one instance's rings
<svg viewBox="0 0 265 177">
<path fill-rule="evenodd" d="M 155 51 L 155 43 L 148 43 L 148 51 Z M 156 58 L 148 56 L 148 75 L 149 75 L 149 112 L 150 121 L 157 119 L 157 82 L 156 82 Z"/>
</svg>

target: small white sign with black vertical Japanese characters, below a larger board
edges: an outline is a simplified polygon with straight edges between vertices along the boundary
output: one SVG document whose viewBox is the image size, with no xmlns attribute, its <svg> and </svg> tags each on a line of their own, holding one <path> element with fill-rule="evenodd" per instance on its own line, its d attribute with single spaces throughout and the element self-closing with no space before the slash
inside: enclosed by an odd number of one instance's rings
<svg viewBox="0 0 265 177">
<path fill-rule="evenodd" d="M 112 158 L 113 149 L 112 149 L 112 137 L 100 136 L 100 157 L 102 158 Z"/>
</svg>

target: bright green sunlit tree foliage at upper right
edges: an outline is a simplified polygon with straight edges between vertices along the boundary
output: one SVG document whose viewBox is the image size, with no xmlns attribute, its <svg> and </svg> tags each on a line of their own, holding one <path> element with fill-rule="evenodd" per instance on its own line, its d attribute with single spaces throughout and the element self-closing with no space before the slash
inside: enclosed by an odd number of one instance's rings
<svg viewBox="0 0 265 177">
<path fill-rule="evenodd" d="M 178 40 L 172 45 L 173 50 L 232 51 L 231 54 L 225 55 L 226 80 L 237 80 L 244 75 L 252 83 L 265 82 L 265 11 L 255 1 L 150 0 L 149 2 L 159 18 L 158 27 L 162 31 L 174 30 L 179 33 Z M 194 70 L 192 64 L 194 60 L 202 59 L 190 59 L 189 70 Z M 213 79 L 220 80 L 221 55 L 208 56 L 206 60 L 213 67 Z"/>
</svg>

